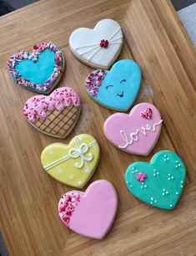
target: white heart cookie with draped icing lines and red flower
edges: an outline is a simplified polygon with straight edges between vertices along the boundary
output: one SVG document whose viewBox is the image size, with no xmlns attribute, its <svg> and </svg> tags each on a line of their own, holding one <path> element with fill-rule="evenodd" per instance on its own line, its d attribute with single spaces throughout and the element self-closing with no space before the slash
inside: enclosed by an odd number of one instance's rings
<svg viewBox="0 0 196 256">
<path fill-rule="evenodd" d="M 109 69 L 123 46 L 123 32 L 113 19 L 103 19 L 91 28 L 78 28 L 69 38 L 69 47 L 83 63 Z"/>
</svg>

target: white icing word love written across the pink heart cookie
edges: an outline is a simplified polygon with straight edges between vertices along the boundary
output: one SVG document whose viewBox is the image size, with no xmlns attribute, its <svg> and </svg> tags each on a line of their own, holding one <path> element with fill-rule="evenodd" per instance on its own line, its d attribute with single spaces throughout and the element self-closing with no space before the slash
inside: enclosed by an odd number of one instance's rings
<svg viewBox="0 0 196 256">
<path fill-rule="evenodd" d="M 138 141 L 138 133 L 142 133 L 143 136 L 147 136 L 147 131 L 152 131 L 152 132 L 156 131 L 156 127 L 158 125 L 161 125 L 162 122 L 163 120 L 159 120 L 158 123 L 156 124 L 153 124 L 153 125 L 147 124 L 146 127 L 141 127 L 141 130 L 137 129 L 135 132 L 131 132 L 130 139 L 128 139 L 128 136 L 125 131 L 120 130 L 120 134 L 123 138 L 123 141 L 125 141 L 126 143 L 123 146 L 118 145 L 118 147 L 126 148 L 128 145 L 132 145 L 134 141 Z"/>
</svg>

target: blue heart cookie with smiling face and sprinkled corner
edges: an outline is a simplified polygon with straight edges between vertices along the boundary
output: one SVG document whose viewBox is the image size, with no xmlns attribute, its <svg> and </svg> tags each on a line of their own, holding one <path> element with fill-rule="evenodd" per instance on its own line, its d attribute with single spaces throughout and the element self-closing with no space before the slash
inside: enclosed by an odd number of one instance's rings
<svg viewBox="0 0 196 256">
<path fill-rule="evenodd" d="M 138 95 L 141 69 L 130 59 L 113 64 L 110 71 L 98 69 L 88 74 L 86 90 L 99 104 L 113 110 L 126 111 Z"/>
</svg>

